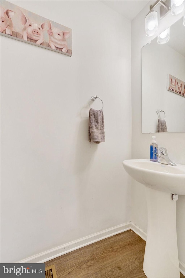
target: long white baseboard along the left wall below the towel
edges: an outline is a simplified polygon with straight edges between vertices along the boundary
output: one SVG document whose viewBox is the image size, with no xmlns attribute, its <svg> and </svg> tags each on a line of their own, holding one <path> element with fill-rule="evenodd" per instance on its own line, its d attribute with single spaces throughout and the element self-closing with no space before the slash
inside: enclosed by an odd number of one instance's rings
<svg viewBox="0 0 185 278">
<path fill-rule="evenodd" d="M 66 253 L 79 249 L 83 246 L 97 242 L 101 239 L 111 237 L 112 235 L 116 235 L 124 231 L 130 230 L 130 228 L 131 222 L 127 222 L 125 224 L 112 227 L 99 233 L 92 234 L 88 237 L 83 237 L 76 241 L 69 242 L 67 244 L 39 253 L 35 256 L 23 259 L 21 261 L 18 261 L 18 263 L 44 263 L 45 261 L 49 261 Z"/>
</svg>

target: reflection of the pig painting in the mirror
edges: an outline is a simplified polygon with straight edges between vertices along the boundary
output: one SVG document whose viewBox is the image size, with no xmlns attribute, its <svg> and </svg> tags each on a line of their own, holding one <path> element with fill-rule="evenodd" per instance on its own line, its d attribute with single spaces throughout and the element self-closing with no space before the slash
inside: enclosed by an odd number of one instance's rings
<svg viewBox="0 0 185 278">
<path fill-rule="evenodd" d="M 185 97 L 185 82 L 171 74 L 167 74 L 167 90 Z"/>
</svg>

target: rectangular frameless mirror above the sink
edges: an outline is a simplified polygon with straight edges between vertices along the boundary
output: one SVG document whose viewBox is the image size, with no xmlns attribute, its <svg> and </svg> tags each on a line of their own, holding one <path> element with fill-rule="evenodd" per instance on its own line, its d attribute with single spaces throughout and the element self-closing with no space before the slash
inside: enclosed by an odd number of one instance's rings
<svg viewBox="0 0 185 278">
<path fill-rule="evenodd" d="M 185 132 L 183 17 L 170 26 L 170 39 L 167 43 L 159 44 L 156 37 L 142 47 L 141 57 L 142 133 L 155 133 L 158 117 L 160 119 L 165 117 L 168 132 Z M 167 87 L 167 82 L 170 82 L 169 76 L 175 77 L 176 80 L 172 78 L 172 85 L 168 84 Z M 157 110 L 164 112 L 157 113 Z"/>
</svg>

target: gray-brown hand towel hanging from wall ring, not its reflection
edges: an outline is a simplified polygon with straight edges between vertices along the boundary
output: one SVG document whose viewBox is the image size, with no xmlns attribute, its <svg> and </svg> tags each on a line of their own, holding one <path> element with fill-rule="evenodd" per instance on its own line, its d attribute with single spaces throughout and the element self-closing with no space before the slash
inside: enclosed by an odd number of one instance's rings
<svg viewBox="0 0 185 278">
<path fill-rule="evenodd" d="M 105 142 L 103 110 L 89 110 L 89 142 Z"/>
</svg>

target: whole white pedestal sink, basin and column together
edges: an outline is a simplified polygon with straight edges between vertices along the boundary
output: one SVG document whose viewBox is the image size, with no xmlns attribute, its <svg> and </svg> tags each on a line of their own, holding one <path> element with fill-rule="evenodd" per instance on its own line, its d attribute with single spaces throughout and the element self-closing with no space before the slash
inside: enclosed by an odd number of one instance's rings
<svg viewBox="0 0 185 278">
<path fill-rule="evenodd" d="M 176 202 L 185 195 L 185 166 L 169 166 L 148 159 L 124 160 L 125 171 L 145 185 L 148 209 L 143 270 L 148 278 L 179 278 Z"/>
</svg>

